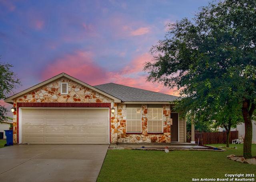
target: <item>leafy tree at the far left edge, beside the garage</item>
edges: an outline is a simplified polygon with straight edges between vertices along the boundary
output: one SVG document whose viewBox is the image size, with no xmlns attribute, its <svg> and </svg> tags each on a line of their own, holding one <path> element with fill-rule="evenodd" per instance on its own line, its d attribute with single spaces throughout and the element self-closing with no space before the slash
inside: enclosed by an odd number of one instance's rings
<svg viewBox="0 0 256 182">
<path fill-rule="evenodd" d="M 6 98 L 7 94 L 12 92 L 17 85 L 20 84 L 20 80 L 16 78 L 16 75 L 10 68 L 13 67 L 10 64 L 0 63 L 0 99 Z M 7 109 L 4 106 L 0 106 L 0 120 L 6 121 Z"/>
</svg>

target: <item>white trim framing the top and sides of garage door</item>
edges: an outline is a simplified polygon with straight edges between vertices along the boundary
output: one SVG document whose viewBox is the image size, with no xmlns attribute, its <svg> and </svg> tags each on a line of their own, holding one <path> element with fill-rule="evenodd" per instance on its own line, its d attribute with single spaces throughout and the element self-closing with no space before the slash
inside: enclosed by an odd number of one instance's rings
<svg viewBox="0 0 256 182">
<path fill-rule="evenodd" d="M 106 108 L 36 108 L 36 107 L 19 107 L 19 144 L 22 144 L 22 109 L 108 109 L 108 144 L 110 144 L 110 131 L 109 131 L 109 125 L 110 125 L 110 117 L 109 117 L 109 112 L 110 109 L 109 107 Z"/>
</svg>

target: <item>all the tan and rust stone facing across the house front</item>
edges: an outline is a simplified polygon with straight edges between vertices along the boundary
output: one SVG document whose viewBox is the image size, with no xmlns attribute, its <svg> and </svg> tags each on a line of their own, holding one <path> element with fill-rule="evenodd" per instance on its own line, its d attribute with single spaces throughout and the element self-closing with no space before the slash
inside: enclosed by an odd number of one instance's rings
<svg viewBox="0 0 256 182">
<path fill-rule="evenodd" d="M 68 94 L 60 94 L 60 83 L 68 82 Z M 26 103 L 110 103 L 115 108 L 114 114 L 110 116 L 110 137 L 111 143 L 150 143 L 161 142 L 170 143 L 170 104 L 163 104 L 163 133 L 148 133 L 147 125 L 147 105 L 142 104 L 142 132 L 126 133 L 126 104 L 114 103 L 112 98 L 108 98 L 90 88 L 87 88 L 68 78 L 60 78 L 46 86 L 38 88 L 28 94 L 20 96 L 14 100 L 14 107 L 18 102 Z M 18 135 L 17 112 L 13 115 L 13 140 L 17 143 Z"/>
</svg>

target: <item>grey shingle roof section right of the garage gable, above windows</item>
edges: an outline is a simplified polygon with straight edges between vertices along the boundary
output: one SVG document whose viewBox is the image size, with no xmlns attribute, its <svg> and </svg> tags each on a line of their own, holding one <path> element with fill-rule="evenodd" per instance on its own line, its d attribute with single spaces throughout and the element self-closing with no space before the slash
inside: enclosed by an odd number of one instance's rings
<svg viewBox="0 0 256 182">
<path fill-rule="evenodd" d="M 152 92 L 130 86 L 107 83 L 94 86 L 107 94 L 119 98 L 123 102 L 172 102 L 178 99 L 177 96 Z"/>
</svg>

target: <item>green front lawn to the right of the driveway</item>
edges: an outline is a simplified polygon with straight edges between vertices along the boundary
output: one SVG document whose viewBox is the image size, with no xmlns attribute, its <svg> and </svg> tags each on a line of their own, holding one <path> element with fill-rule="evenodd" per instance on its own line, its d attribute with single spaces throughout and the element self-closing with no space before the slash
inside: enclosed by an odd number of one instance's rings
<svg viewBox="0 0 256 182">
<path fill-rule="evenodd" d="M 225 146 L 215 144 L 214 146 Z M 227 155 L 242 155 L 238 149 L 214 151 L 138 151 L 110 150 L 104 160 L 97 182 L 184 182 L 192 178 L 225 178 L 224 174 L 256 175 L 256 166 L 234 162 Z M 256 144 L 252 145 L 256 155 Z"/>
</svg>

